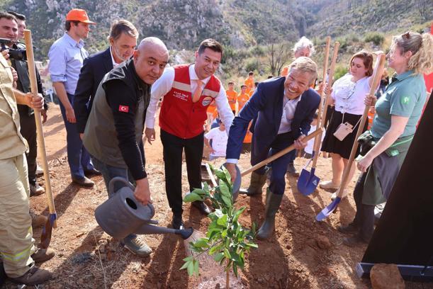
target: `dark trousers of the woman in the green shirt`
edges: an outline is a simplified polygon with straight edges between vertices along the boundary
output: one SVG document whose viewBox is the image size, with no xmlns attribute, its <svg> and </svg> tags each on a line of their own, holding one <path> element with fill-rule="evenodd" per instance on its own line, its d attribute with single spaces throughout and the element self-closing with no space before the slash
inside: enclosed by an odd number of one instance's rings
<svg viewBox="0 0 433 289">
<path fill-rule="evenodd" d="M 354 218 L 354 225 L 359 227 L 359 237 L 364 241 L 369 242 L 374 232 L 374 205 L 365 205 L 362 203 L 362 196 L 364 193 L 364 183 L 366 181 L 367 173 L 363 173 L 356 181 L 354 189 L 354 200 L 356 204 L 356 215 Z"/>
</svg>

